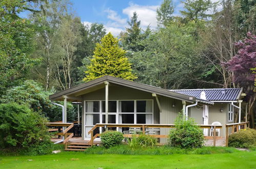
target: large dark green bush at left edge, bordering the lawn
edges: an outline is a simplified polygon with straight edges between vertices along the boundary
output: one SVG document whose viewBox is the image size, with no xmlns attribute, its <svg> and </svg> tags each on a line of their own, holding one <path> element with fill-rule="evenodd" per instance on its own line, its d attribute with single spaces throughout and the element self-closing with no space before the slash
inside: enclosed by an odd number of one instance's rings
<svg viewBox="0 0 256 169">
<path fill-rule="evenodd" d="M 0 104 L 0 146 L 49 153 L 50 134 L 45 122 L 45 117 L 26 105 Z"/>
</svg>

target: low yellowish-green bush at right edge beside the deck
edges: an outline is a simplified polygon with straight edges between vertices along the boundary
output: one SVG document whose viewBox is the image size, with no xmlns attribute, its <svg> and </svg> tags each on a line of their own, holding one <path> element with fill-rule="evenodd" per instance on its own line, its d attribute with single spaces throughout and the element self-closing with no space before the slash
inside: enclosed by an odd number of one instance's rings
<svg viewBox="0 0 256 169">
<path fill-rule="evenodd" d="M 256 146 L 256 130 L 244 129 L 231 134 L 228 138 L 228 145 L 241 148 L 251 148 Z"/>
</svg>

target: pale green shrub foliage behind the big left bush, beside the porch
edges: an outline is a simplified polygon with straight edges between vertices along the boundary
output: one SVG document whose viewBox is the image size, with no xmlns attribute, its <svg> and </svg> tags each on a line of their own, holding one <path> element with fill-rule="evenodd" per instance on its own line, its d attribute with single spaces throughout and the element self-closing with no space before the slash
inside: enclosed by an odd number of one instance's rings
<svg viewBox="0 0 256 169">
<path fill-rule="evenodd" d="M 25 104 L 33 111 L 41 112 L 50 121 L 62 120 L 62 108 L 49 100 L 49 95 L 53 93 L 53 91 L 44 91 L 43 87 L 33 80 L 26 80 L 21 86 L 8 89 L 2 96 L 1 102 Z M 71 103 L 67 104 L 67 112 L 68 121 L 76 119 L 76 110 Z"/>
</svg>

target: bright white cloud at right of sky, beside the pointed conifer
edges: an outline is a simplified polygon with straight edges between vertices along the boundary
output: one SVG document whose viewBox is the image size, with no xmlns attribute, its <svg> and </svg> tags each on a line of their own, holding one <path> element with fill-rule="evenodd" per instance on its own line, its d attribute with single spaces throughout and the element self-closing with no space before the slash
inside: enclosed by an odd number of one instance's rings
<svg viewBox="0 0 256 169">
<path fill-rule="evenodd" d="M 159 6 L 141 6 L 133 3 L 129 3 L 129 7 L 123 9 L 123 13 L 128 15 L 129 19 L 133 16 L 133 12 L 136 11 L 138 19 L 141 20 L 141 26 L 146 28 L 150 25 L 152 28 L 157 26 L 156 21 L 156 9 Z"/>
</svg>

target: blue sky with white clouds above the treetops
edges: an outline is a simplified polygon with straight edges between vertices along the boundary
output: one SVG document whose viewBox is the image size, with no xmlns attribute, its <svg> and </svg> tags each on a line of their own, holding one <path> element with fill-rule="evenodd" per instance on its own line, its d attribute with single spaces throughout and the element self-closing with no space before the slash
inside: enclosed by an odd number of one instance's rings
<svg viewBox="0 0 256 169">
<path fill-rule="evenodd" d="M 156 9 L 160 7 L 162 0 L 71 0 L 75 15 L 81 17 L 84 24 L 103 24 L 107 32 L 118 35 L 124 31 L 127 21 L 134 11 L 139 15 L 141 26 L 145 29 L 148 25 L 154 29 L 156 23 Z M 180 0 L 173 0 L 174 15 L 179 15 L 183 9 Z"/>
</svg>

